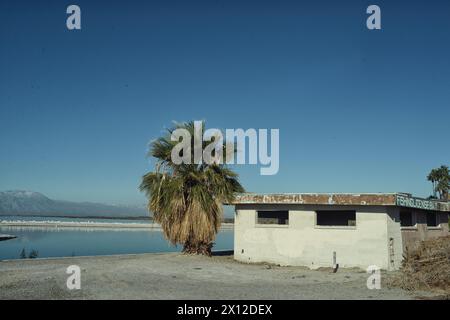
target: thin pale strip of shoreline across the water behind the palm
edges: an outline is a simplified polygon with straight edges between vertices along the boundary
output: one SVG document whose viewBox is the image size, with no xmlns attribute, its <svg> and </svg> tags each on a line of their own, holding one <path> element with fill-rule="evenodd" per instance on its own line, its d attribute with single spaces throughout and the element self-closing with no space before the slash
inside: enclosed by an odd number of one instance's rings
<svg viewBox="0 0 450 320">
<path fill-rule="evenodd" d="M 123 222 L 91 222 L 91 221 L 0 221 L 0 227 L 43 227 L 43 228 L 120 228 L 120 229 L 157 229 L 157 223 L 123 223 Z M 233 223 L 222 223 L 220 229 L 233 229 Z"/>
</svg>

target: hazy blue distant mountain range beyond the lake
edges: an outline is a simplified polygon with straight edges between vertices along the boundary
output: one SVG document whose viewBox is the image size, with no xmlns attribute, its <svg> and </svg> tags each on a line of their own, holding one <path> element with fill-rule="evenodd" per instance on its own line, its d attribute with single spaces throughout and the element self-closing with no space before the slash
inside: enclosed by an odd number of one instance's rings
<svg viewBox="0 0 450 320">
<path fill-rule="evenodd" d="M 0 192 L 0 216 L 55 216 L 55 217 L 148 217 L 142 207 L 116 206 L 91 202 L 52 200 L 39 192 Z"/>
</svg>

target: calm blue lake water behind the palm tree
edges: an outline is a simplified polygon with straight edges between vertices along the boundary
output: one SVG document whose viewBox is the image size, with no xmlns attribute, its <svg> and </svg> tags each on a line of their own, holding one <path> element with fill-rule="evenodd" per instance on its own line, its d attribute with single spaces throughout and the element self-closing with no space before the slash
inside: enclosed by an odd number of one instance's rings
<svg viewBox="0 0 450 320">
<path fill-rule="evenodd" d="M 39 218 L 50 220 L 50 218 Z M 62 221 L 61 218 L 52 218 Z M 1 217 L 0 220 L 25 220 L 23 217 Z M 27 220 L 38 220 L 27 218 Z M 69 219 L 78 221 L 78 219 Z M 68 220 L 64 220 L 68 221 Z M 104 219 L 80 219 L 104 221 Z M 136 223 L 136 220 L 113 220 Z M 113 222 L 107 219 L 106 222 Z M 146 221 L 148 223 L 148 221 Z M 12 234 L 16 239 L 0 241 L 0 260 L 18 259 L 23 249 L 27 255 L 32 250 L 39 258 L 132 254 L 152 252 L 177 252 L 181 247 L 171 246 L 161 231 L 152 229 L 106 228 L 55 228 L 55 227 L 0 227 L 0 233 Z M 232 250 L 233 230 L 223 230 L 216 238 L 213 250 Z"/>
</svg>

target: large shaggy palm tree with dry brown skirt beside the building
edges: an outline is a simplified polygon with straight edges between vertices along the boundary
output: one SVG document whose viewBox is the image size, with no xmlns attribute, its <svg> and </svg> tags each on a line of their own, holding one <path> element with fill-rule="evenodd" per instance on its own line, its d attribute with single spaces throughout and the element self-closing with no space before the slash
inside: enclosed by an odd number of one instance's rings
<svg viewBox="0 0 450 320">
<path fill-rule="evenodd" d="M 222 221 L 222 204 L 230 203 L 244 188 L 238 175 L 223 163 L 172 162 L 172 149 L 178 143 L 171 141 L 175 129 L 186 129 L 194 146 L 194 122 L 168 129 L 166 135 L 150 145 L 149 155 L 157 159 L 155 171 L 143 176 L 140 189 L 147 194 L 148 209 L 153 212 L 154 220 L 173 245 L 183 245 L 184 253 L 211 255 Z M 202 150 L 210 143 L 203 142 Z M 191 150 L 193 153 L 194 148 Z"/>
</svg>

